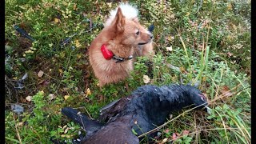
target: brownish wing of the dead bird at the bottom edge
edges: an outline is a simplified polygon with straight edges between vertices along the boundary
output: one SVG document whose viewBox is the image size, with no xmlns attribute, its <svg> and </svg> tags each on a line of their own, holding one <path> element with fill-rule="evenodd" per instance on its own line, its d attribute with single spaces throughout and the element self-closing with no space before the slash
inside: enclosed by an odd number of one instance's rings
<svg viewBox="0 0 256 144">
<path fill-rule="evenodd" d="M 82 144 L 138 144 L 139 140 L 131 127 L 123 122 L 111 122 L 98 130 L 90 138 L 86 138 Z"/>
</svg>

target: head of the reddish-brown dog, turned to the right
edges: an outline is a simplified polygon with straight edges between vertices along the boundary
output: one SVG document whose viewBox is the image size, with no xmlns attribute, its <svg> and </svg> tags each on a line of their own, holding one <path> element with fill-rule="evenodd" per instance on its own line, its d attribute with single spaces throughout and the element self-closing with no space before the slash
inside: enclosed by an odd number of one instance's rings
<svg viewBox="0 0 256 144">
<path fill-rule="evenodd" d="M 114 39 L 126 46 L 143 45 L 151 41 L 152 34 L 139 22 L 138 18 L 127 19 L 119 7 L 113 22 L 110 25 L 114 32 Z"/>
</svg>

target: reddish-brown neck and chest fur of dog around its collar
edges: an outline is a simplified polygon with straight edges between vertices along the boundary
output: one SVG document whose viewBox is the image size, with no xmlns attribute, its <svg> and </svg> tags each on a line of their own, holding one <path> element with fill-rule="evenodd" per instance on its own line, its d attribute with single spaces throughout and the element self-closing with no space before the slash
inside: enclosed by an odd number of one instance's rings
<svg viewBox="0 0 256 144">
<path fill-rule="evenodd" d="M 89 49 L 90 63 L 92 64 L 96 78 L 100 80 L 100 86 L 107 83 L 119 82 L 125 79 L 130 74 L 130 71 L 133 70 L 133 59 L 118 63 L 114 59 L 106 60 L 100 48 L 102 44 L 106 44 L 109 50 L 122 58 L 128 58 L 132 55 L 134 48 L 117 45 L 113 40 L 104 36 L 105 33 L 102 31 L 102 34 L 99 34 L 94 39 Z"/>
</svg>

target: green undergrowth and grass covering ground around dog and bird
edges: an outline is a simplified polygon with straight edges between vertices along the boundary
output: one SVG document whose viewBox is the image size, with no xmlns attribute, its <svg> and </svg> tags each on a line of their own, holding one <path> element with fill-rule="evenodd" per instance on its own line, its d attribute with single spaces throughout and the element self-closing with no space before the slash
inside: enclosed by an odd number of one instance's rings
<svg viewBox="0 0 256 144">
<path fill-rule="evenodd" d="M 181 79 L 183 83 L 197 82 L 213 109 L 211 114 L 193 110 L 173 114 L 161 126 L 162 137 L 156 142 L 251 143 L 250 2 L 130 3 L 138 6 L 144 26 L 154 24 L 156 54 L 152 69 L 146 65 L 146 58 L 136 58 L 134 71 L 125 81 L 130 88 L 127 91 L 125 82 L 99 90 L 86 53 L 117 3 L 6 1 L 6 143 L 77 138 L 82 130 L 62 117 L 62 107 L 78 108 L 97 118 L 98 110 L 106 103 L 145 85 L 143 75 L 158 86 L 180 83 Z M 94 26 L 91 30 L 90 20 Z M 17 34 L 15 24 L 36 41 Z M 70 43 L 60 46 L 75 33 Z M 38 77 L 40 70 L 44 72 L 42 77 Z M 25 87 L 14 89 L 15 80 L 26 73 Z M 91 94 L 86 94 L 88 90 Z M 26 100 L 28 96 L 32 96 L 31 102 Z M 24 107 L 23 114 L 10 110 L 15 103 Z"/>
</svg>

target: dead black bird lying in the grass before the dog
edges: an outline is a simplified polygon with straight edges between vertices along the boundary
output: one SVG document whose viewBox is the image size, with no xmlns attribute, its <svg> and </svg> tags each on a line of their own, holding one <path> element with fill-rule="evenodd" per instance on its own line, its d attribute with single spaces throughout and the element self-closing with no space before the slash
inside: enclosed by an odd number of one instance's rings
<svg viewBox="0 0 256 144">
<path fill-rule="evenodd" d="M 62 109 L 62 114 L 78 122 L 86 130 L 83 144 L 139 143 L 132 129 L 140 135 L 166 122 L 175 110 L 190 106 L 208 110 L 205 96 L 190 85 L 141 86 L 125 98 L 120 98 L 100 111 L 98 121 L 87 118 L 70 107 Z M 104 123 L 104 124 L 103 124 Z M 156 133 L 147 135 L 154 138 Z M 75 142 L 75 140 L 74 140 Z"/>
</svg>

